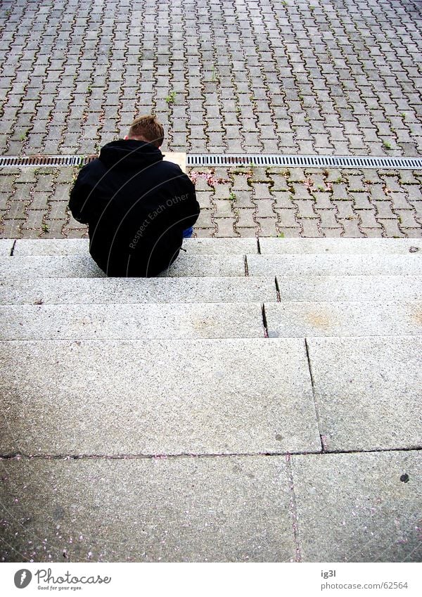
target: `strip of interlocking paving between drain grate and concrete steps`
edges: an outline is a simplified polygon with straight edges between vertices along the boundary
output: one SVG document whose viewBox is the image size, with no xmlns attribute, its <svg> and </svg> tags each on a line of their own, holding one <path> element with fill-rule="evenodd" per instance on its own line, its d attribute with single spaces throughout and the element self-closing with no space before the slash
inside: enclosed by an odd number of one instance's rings
<svg viewBox="0 0 422 597">
<path fill-rule="evenodd" d="M 3 238 L 78 238 L 67 210 L 72 167 L 3 169 Z M 191 169 L 196 236 L 422 237 L 422 172 Z"/>
</svg>

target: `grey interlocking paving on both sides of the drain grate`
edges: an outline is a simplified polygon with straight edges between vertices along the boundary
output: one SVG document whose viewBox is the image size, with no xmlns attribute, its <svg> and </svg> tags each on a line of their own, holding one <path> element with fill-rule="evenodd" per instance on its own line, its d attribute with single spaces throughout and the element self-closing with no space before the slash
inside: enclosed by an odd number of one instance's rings
<svg viewBox="0 0 422 597">
<path fill-rule="evenodd" d="M 422 155 L 420 6 L 3 1 L 1 153 L 94 153 L 152 110 L 164 150 Z M 200 174 L 198 236 L 420 235 L 416 172 Z M 0 236 L 86 233 L 71 180 L 1 169 Z"/>
</svg>

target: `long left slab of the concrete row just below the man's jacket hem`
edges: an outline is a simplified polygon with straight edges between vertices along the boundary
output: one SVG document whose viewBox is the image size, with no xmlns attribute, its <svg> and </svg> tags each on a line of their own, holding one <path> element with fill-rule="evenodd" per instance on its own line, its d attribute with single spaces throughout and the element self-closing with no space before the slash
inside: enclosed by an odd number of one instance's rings
<svg viewBox="0 0 422 597">
<path fill-rule="evenodd" d="M 72 278 L 71 284 L 63 278 L 0 279 L 0 304 L 139 304 L 276 300 L 276 286 L 272 276 L 268 278 Z"/>
</svg>

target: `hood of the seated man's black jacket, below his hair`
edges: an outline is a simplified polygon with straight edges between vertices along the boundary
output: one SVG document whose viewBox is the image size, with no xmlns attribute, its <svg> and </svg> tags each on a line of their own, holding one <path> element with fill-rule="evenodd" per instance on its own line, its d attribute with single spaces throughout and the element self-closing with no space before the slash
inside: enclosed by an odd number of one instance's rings
<svg viewBox="0 0 422 597">
<path fill-rule="evenodd" d="M 119 139 L 103 146 L 99 159 L 107 167 L 139 167 L 162 160 L 162 153 L 158 147 L 146 141 L 136 139 Z"/>
</svg>

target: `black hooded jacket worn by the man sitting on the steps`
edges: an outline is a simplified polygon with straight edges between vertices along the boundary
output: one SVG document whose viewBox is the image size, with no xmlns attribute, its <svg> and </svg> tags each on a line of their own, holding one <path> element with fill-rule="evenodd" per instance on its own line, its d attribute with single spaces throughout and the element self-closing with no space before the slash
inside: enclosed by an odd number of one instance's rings
<svg viewBox="0 0 422 597">
<path fill-rule="evenodd" d="M 89 226 L 89 252 L 108 276 L 156 276 L 179 255 L 200 207 L 181 168 L 151 143 L 101 148 L 70 191 L 73 217 Z"/>
</svg>

